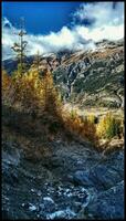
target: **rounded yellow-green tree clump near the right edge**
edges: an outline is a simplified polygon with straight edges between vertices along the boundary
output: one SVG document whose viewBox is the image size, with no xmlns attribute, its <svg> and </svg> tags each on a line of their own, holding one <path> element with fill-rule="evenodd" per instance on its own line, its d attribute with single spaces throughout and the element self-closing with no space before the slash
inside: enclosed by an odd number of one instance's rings
<svg viewBox="0 0 126 221">
<path fill-rule="evenodd" d="M 115 118 L 112 113 L 106 114 L 97 125 L 97 135 L 101 138 L 113 138 L 120 135 L 120 120 Z"/>
</svg>

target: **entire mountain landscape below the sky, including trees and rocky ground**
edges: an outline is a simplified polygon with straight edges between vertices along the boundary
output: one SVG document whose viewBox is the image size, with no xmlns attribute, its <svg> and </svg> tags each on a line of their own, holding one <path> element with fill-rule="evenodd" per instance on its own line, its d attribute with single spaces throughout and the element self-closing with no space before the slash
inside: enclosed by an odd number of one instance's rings
<svg viewBox="0 0 126 221">
<path fill-rule="evenodd" d="M 3 62 L 2 218 L 124 219 L 123 41 L 33 60 Z"/>
</svg>

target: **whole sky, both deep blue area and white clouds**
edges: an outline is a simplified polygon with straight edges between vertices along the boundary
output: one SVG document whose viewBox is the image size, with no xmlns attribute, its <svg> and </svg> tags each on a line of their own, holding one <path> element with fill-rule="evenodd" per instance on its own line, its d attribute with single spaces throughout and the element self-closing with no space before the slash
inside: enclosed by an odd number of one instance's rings
<svg viewBox="0 0 126 221">
<path fill-rule="evenodd" d="M 14 55 L 21 17 L 29 55 L 94 50 L 97 41 L 124 38 L 123 2 L 2 2 L 3 60 Z"/>
</svg>

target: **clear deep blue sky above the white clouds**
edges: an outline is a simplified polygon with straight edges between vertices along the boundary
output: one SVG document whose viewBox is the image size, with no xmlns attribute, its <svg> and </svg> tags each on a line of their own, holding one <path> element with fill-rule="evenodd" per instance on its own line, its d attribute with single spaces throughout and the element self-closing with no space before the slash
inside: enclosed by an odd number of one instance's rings
<svg viewBox="0 0 126 221">
<path fill-rule="evenodd" d="M 70 25 L 72 13 L 81 2 L 3 2 L 2 15 L 18 28 L 19 19 L 24 17 L 25 29 L 30 33 L 48 34 Z"/>
</svg>

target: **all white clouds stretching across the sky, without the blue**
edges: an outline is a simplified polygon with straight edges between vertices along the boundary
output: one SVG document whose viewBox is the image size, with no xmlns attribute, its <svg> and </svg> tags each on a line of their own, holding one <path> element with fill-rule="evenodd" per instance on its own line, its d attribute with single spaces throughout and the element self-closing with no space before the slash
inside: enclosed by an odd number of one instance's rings
<svg viewBox="0 0 126 221">
<path fill-rule="evenodd" d="M 75 24 L 73 28 L 63 27 L 59 32 L 51 32 L 48 35 L 25 35 L 28 41 L 28 54 L 41 54 L 57 52 L 60 50 L 84 50 L 95 49 L 95 42 L 103 39 L 118 40 L 124 38 L 124 3 L 95 2 L 81 4 L 73 14 L 73 20 L 94 20 L 92 25 Z M 19 41 L 18 32 L 10 21 L 4 18 L 2 21 L 2 54 L 3 60 L 13 56 L 11 46 Z"/>
</svg>

